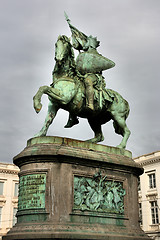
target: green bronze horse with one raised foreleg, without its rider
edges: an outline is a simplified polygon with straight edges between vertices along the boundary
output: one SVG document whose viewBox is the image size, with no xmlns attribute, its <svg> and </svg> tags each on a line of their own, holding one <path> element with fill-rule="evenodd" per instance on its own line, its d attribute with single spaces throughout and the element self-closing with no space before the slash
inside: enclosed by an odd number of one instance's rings
<svg viewBox="0 0 160 240">
<path fill-rule="evenodd" d="M 86 108 L 83 76 L 76 69 L 74 51 L 69 38 L 65 35 L 59 36 L 55 44 L 55 61 L 56 64 L 52 73 L 53 83 L 51 86 L 41 86 L 33 97 L 34 109 L 37 113 L 42 108 L 42 95 L 47 94 L 49 98 L 45 122 L 42 129 L 34 137 L 46 136 L 57 111 L 61 108 L 70 113 L 69 121 L 74 122 L 71 126 L 78 123 L 77 116 L 88 120 L 94 132 L 94 137 L 87 140 L 87 142 L 91 143 L 104 140 L 101 126 L 113 120 L 115 133 L 123 137 L 117 147 L 125 149 L 130 136 L 130 130 L 126 125 L 126 119 L 130 111 L 128 102 L 116 91 L 103 89 L 103 95 L 108 91 L 112 96 L 112 101 L 106 101 L 103 97 L 102 106 L 100 107 L 97 98 L 94 98 L 94 111 Z M 99 90 L 94 91 L 94 95 L 99 92 Z"/>
</svg>

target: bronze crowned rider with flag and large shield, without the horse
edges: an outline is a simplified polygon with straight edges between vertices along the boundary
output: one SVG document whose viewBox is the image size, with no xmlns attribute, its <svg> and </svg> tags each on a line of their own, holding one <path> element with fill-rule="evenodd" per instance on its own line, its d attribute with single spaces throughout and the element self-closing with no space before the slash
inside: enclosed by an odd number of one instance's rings
<svg viewBox="0 0 160 240">
<path fill-rule="evenodd" d="M 65 14 L 66 20 L 72 32 L 72 45 L 73 48 L 79 50 L 79 55 L 76 59 L 76 68 L 83 76 L 86 88 L 86 108 L 94 110 L 94 88 L 99 90 L 99 107 L 102 108 L 102 90 L 105 89 L 105 81 L 102 76 L 102 71 L 112 68 L 115 63 L 108 58 L 103 57 L 97 52 L 97 47 L 100 42 L 97 38 L 86 36 L 77 28 L 71 25 L 68 16 Z M 83 52 L 80 52 L 80 51 Z M 112 96 L 105 91 L 105 99 L 112 102 Z M 72 127 L 78 123 L 75 116 L 70 116 L 69 121 L 65 127 Z"/>
</svg>

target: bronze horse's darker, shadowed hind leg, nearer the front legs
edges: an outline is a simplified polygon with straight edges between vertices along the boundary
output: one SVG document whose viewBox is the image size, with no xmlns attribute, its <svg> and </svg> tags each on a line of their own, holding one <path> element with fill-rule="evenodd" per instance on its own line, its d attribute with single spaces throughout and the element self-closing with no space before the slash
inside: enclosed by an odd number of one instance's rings
<svg viewBox="0 0 160 240">
<path fill-rule="evenodd" d="M 92 119 L 88 119 L 89 125 L 94 131 L 95 137 L 87 140 L 86 142 L 97 143 L 102 142 L 104 140 L 104 136 L 101 129 L 101 124 L 98 124 L 98 120 L 94 121 Z"/>
</svg>

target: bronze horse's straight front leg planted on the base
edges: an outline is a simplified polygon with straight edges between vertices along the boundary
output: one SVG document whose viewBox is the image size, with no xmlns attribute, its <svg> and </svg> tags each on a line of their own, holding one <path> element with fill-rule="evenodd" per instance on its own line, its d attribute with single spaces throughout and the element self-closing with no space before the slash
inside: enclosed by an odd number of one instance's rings
<svg viewBox="0 0 160 240">
<path fill-rule="evenodd" d="M 53 122 L 53 119 L 55 118 L 58 109 L 59 108 L 56 104 L 53 104 L 51 101 L 49 101 L 48 112 L 43 127 L 36 135 L 34 135 L 34 137 L 46 136 L 48 128 Z"/>
</svg>

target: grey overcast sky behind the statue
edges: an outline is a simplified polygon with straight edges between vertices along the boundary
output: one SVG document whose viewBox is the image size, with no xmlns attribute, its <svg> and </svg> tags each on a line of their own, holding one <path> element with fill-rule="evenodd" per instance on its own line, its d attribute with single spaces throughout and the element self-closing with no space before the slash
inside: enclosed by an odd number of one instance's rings
<svg viewBox="0 0 160 240">
<path fill-rule="evenodd" d="M 47 96 L 37 115 L 32 98 L 50 85 L 54 44 L 71 36 L 71 23 L 97 36 L 98 51 L 116 66 L 104 71 L 108 88 L 130 104 L 127 149 L 133 157 L 160 150 L 160 1 L 159 0 L 0 0 L 0 161 L 12 158 L 36 134 L 47 113 Z M 58 112 L 48 135 L 86 140 L 93 136 L 87 120 L 64 129 L 68 113 Z M 103 126 L 102 144 L 116 146 L 121 136 L 112 122 Z"/>
</svg>

